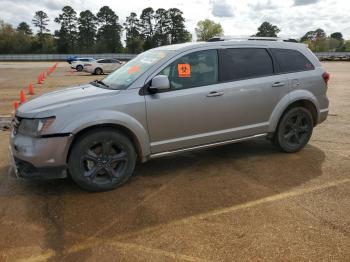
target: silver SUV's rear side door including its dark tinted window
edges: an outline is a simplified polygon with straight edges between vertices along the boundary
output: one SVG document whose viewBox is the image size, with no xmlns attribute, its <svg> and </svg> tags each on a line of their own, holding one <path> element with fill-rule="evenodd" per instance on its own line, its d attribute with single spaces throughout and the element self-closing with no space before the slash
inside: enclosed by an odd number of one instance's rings
<svg viewBox="0 0 350 262">
<path fill-rule="evenodd" d="M 266 133 L 272 111 L 288 93 L 288 79 L 275 74 L 265 48 L 224 48 L 219 51 L 219 81 L 225 92 L 223 105 L 230 136 L 241 138 Z"/>
</svg>

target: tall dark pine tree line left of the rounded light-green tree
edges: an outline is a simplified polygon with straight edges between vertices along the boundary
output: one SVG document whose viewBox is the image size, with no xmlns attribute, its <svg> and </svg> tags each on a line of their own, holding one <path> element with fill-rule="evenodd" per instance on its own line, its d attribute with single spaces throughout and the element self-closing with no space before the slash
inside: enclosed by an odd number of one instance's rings
<svg viewBox="0 0 350 262">
<path fill-rule="evenodd" d="M 140 16 L 130 13 L 121 24 L 108 6 L 101 7 L 96 14 L 85 10 L 79 15 L 71 6 L 65 6 L 54 19 L 60 28 L 53 34 L 48 29 L 49 21 L 44 11 L 36 11 L 31 21 L 37 28 L 36 34 L 26 22 L 15 29 L 0 21 L 0 53 L 140 53 L 192 40 L 183 13 L 177 8 L 148 7 Z"/>
</svg>

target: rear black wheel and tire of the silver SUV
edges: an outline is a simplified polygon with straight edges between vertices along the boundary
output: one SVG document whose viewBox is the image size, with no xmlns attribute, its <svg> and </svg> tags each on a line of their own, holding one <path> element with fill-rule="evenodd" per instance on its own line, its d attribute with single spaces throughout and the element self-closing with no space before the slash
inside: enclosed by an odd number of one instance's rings
<svg viewBox="0 0 350 262">
<path fill-rule="evenodd" d="M 292 108 L 282 116 L 272 141 L 284 152 L 298 152 L 309 142 L 313 127 L 309 110 Z"/>
</svg>

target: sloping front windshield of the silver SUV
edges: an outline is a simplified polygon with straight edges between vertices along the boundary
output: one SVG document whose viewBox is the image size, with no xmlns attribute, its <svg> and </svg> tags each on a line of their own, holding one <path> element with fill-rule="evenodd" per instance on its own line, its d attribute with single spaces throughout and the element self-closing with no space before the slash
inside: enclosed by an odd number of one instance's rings
<svg viewBox="0 0 350 262">
<path fill-rule="evenodd" d="M 155 63 L 167 56 L 169 51 L 150 50 L 144 52 L 103 79 L 103 83 L 112 89 L 126 89 L 139 76 Z"/>
</svg>

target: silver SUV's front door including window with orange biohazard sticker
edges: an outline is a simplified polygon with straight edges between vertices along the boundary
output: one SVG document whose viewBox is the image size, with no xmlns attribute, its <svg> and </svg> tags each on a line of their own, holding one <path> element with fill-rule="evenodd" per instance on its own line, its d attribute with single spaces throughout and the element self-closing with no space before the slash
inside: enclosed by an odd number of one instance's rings
<svg viewBox="0 0 350 262">
<path fill-rule="evenodd" d="M 223 93 L 218 84 L 217 50 L 182 56 L 159 74 L 169 91 L 146 95 L 151 152 L 207 144 L 220 129 Z"/>
</svg>

